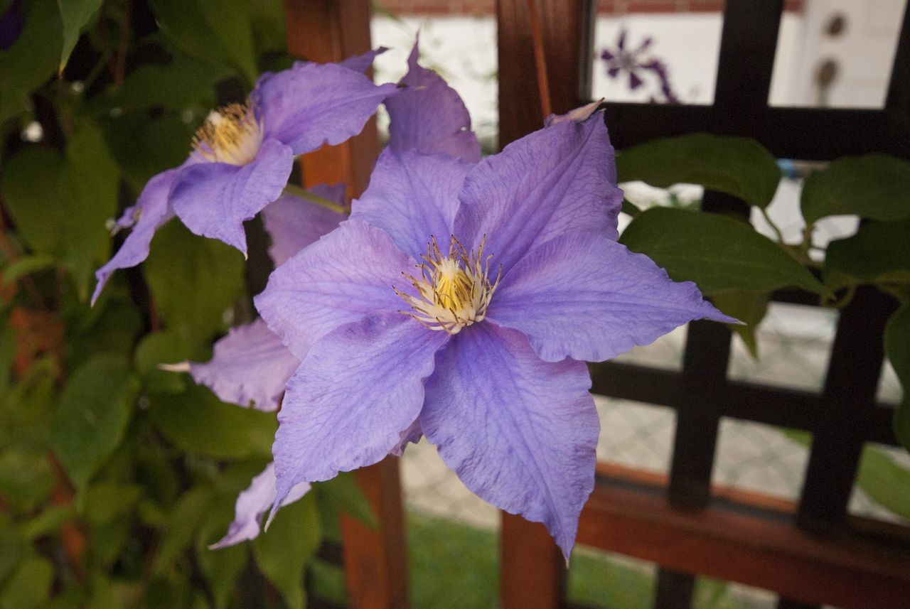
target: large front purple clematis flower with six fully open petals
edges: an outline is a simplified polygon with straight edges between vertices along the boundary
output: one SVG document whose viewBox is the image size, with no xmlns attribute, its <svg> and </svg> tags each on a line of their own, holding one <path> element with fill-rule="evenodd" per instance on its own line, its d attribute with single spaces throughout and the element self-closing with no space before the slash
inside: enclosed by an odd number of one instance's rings
<svg viewBox="0 0 910 609">
<path fill-rule="evenodd" d="M 350 219 L 256 298 L 301 360 L 273 447 L 277 502 L 426 434 L 462 482 L 546 524 L 568 556 L 599 424 L 585 360 L 692 319 L 692 283 L 616 243 L 602 113 L 571 113 L 478 164 L 387 149 Z"/>
</svg>

